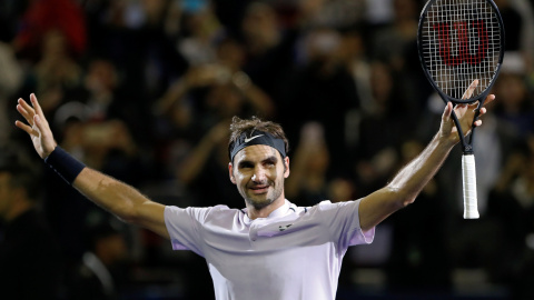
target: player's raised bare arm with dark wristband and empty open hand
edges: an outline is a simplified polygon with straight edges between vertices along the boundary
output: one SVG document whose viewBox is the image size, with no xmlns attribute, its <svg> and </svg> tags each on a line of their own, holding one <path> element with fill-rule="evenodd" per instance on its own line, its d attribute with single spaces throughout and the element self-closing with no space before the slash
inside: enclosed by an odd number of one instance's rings
<svg viewBox="0 0 534 300">
<path fill-rule="evenodd" d="M 126 222 L 169 238 L 164 219 L 165 206 L 150 201 L 135 188 L 87 168 L 67 154 L 55 141 L 33 93 L 30 96 L 30 102 L 31 106 L 19 99 L 17 110 L 28 123 L 16 121 L 16 126 L 30 136 L 37 153 L 42 159 L 47 159 L 52 168 L 60 170 L 63 179 L 99 207 Z"/>
</svg>

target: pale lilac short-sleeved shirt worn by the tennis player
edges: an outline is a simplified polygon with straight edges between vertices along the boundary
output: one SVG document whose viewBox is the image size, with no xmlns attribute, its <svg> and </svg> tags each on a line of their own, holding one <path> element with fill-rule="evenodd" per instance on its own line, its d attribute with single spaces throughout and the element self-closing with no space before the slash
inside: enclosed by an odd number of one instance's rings
<svg viewBox="0 0 534 300">
<path fill-rule="evenodd" d="M 359 228 L 359 202 L 286 200 L 255 220 L 226 206 L 166 207 L 165 222 L 174 250 L 206 258 L 217 300 L 334 300 L 347 248 L 374 238 Z"/>
</svg>

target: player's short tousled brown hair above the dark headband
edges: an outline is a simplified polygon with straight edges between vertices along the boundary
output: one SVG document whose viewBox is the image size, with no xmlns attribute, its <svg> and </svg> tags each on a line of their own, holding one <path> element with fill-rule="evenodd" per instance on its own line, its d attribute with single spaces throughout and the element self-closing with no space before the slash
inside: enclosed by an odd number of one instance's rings
<svg viewBox="0 0 534 300">
<path fill-rule="evenodd" d="M 253 116 L 250 119 L 240 119 L 239 117 L 231 118 L 228 149 L 234 148 L 234 143 L 236 143 L 243 133 L 250 134 L 254 131 L 268 132 L 275 138 L 281 139 L 284 141 L 286 153 L 289 152 L 289 141 L 287 140 L 281 126 L 273 121 L 264 121 L 256 116 Z"/>
</svg>

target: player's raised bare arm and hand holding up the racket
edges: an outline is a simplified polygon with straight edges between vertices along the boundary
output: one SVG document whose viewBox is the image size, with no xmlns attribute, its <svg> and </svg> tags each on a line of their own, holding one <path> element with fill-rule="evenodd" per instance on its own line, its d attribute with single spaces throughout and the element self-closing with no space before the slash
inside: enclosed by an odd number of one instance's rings
<svg viewBox="0 0 534 300">
<path fill-rule="evenodd" d="M 495 96 L 490 94 L 485 103 L 494 99 Z M 386 187 L 362 200 L 359 222 L 364 231 L 372 229 L 389 214 L 415 201 L 426 183 L 439 170 L 453 147 L 459 141 L 456 127 L 451 118 L 453 109 L 462 123 L 463 132 L 468 134 L 476 107 L 477 103 L 456 106 L 455 108 L 452 103 L 448 103 L 445 107 L 439 132 L 432 139 L 425 150 L 406 164 Z M 485 112 L 486 109 L 481 108 L 481 116 Z M 476 127 L 481 124 L 481 120 L 474 123 Z"/>
</svg>

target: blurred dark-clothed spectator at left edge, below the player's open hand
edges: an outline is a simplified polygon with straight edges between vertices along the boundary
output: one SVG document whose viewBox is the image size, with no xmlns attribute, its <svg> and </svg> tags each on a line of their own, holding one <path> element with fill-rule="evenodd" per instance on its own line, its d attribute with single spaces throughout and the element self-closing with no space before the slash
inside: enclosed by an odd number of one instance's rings
<svg viewBox="0 0 534 300">
<path fill-rule="evenodd" d="M 58 242 L 38 210 L 39 181 L 20 149 L 0 149 L 0 298 L 58 299 Z"/>
</svg>

